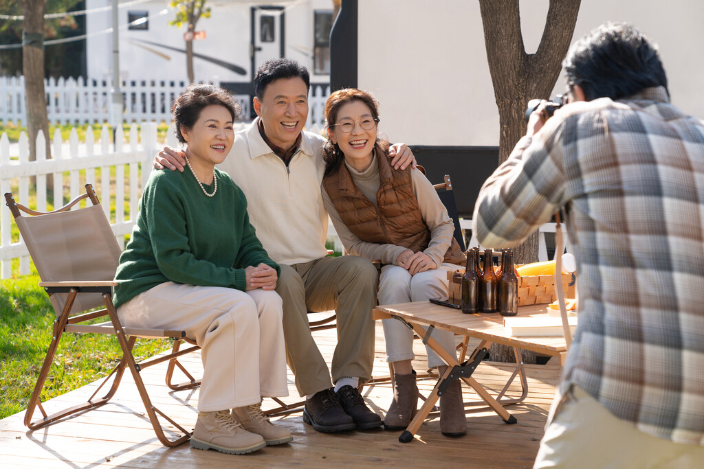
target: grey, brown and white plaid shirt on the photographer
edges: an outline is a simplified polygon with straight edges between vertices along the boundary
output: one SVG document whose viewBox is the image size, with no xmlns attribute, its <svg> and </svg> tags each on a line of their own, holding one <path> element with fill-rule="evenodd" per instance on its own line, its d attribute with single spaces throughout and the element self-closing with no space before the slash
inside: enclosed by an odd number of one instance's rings
<svg viewBox="0 0 704 469">
<path fill-rule="evenodd" d="M 572 103 L 487 179 L 474 233 L 517 245 L 567 205 L 572 383 L 662 439 L 704 444 L 704 122 L 662 86 Z"/>
</svg>

